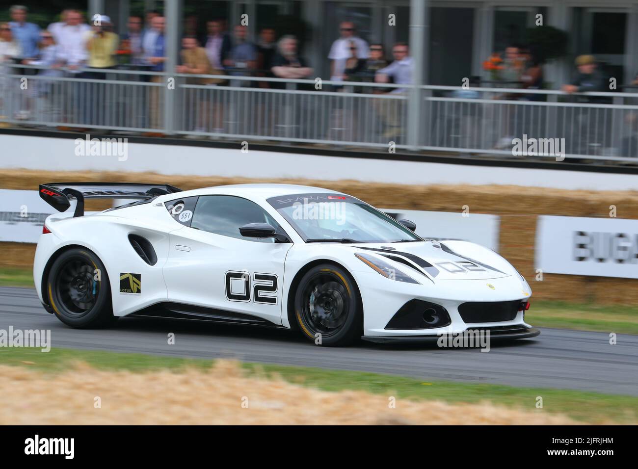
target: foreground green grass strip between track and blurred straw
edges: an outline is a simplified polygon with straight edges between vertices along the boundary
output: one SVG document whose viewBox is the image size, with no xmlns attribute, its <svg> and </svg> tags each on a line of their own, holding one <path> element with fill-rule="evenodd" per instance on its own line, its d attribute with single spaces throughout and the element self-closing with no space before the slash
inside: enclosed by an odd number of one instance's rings
<svg viewBox="0 0 638 469">
<path fill-rule="evenodd" d="M 212 360 L 160 357 L 156 355 L 126 354 L 97 350 L 52 348 L 48 353 L 38 348 L 0 348 L 0 364 L 40 369 L 59 373 L 69 369 L 73 362 L 87 362 L 93 368 L 105 370 L 126 369 L 143 372 L 170 369 L 175 372 L 186 368 L 210 369 Z M 300 366 L 244 363 L 249 376 L 281 376 L 290 383 L 322 391 L 367 391 L 373 394 L 395 396 L 397 399 L 438 400 L 446 403 L 480 403 L 521 408 L 535 411 L 538 396 L 543 399 L 543 410 L 563 413 L 581 422 L 634 423 L 638 421 L 638 397 L 600 394 L 597 392 L 566 389 L 536 389 L 494 384 L 427 381 L 403 376 L 382 375 L 362 371 L 341 371 Z M 524 422 L 521 422 L 524 424 Z"/>
</svg>

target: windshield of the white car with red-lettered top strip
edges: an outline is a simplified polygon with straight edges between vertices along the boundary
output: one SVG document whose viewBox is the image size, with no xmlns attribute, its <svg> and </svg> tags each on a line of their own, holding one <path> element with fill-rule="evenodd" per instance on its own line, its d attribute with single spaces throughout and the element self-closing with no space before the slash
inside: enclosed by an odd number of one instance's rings
<svg viewBox="0 0 638 469">
<path fill-rule="evenodd" d="M 306 242 L 422 241 L 401 223 L 349 195 L 295 194 L 268 202 Z"/>
</svg>

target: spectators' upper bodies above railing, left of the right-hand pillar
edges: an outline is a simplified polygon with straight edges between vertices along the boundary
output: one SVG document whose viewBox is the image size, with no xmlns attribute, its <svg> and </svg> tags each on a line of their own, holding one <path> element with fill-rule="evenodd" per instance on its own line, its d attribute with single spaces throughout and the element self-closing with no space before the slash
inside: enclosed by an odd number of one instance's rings
<svg viewBox="0 0 638 469">
<path fill-rule="evenodd" d="M 0 63 L 5 66 L 38 64 L 91 78 L 103 76 L 99 72 L 110 68 L 165 70 L 165 19 L 158 11 L 149 11 L 144 19 L 129 17 L 122 37 L 114 33 L 106 15 L 96 15 L 87 23 L 80 11 L 64 10 L 60 21 L 47 29 L 29 22 L 25 6 L 12 6 L 10 16 L 10 22 L 0 24 Z M 410 83 L 412 61 L 406 45 L 397 45 L 396 61 L 387 66 L 381 44 L 368 45 L 357 36 L 352 22 L 341 23 L 339 29 L 341 37 L 334 41 L 328 56 L 331 80 L 387 82 L 394 78 L 398 84 Z M 236 25 L 228 33 L 221 19 L 207 21 L 206 31 L 203 38 L 184 37 L 178 73 L 279 78 L 310 78 L 313 73 L 298 54 L 295 36 L 277 38 L 272 27 L 264 27 L 253 42 L 248 27 Z M 86 75 L 85 68 L 100 70 Z"/>
</svg>

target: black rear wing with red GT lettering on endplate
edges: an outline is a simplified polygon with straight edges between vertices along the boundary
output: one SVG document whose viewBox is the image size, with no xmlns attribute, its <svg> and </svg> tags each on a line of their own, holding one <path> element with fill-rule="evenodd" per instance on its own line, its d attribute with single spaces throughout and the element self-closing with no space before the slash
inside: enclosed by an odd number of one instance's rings
<svg viewBox="0 0 638 469">
<path fill-rule="evenodd" d="M 50 182 L 40 184 L 40 197 L 59 212 L 77 200 L 73 216 L 84 215 L 85 198 L 126 198 L 144 200 L 158 195 L 181 192 L 168 184 L 136 184 L 135 182 Z"/>
</svg>

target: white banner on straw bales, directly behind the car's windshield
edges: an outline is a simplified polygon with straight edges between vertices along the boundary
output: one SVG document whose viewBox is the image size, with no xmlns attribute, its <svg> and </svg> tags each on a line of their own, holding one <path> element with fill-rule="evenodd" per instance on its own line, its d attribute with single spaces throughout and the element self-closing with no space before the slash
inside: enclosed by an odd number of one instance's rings
<svg viewBox="0 0 638 469">
<path fill-rule="evenodd" d="M 498 251 L 500 217 L 483 213 L 430 212 L 424 210 L 380 209 L 395 220 L 417 224 L 424 239 L 460 239 Z"/>
</svg>

